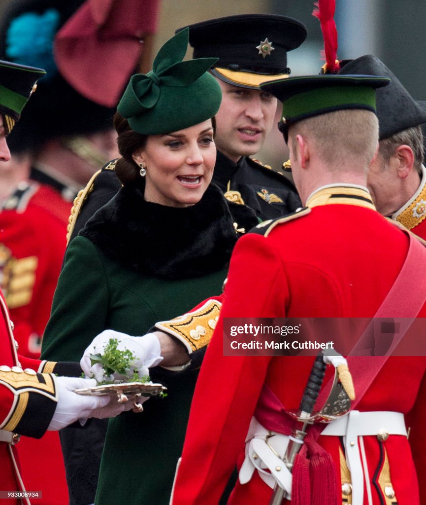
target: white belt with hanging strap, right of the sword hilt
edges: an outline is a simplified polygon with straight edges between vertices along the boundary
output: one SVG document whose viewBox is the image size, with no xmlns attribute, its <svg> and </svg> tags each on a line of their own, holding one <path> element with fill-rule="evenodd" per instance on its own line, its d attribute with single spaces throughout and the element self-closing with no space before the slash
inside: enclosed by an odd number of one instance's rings
<svg viewBox="0 0 426 505">
<path fill-rule="evenodd" d="M 385 441 L 389 435 L 407 436 L 407 430 L 404 415 L 400 412 L 350 411 L 348 415 L 328 424 L 321 435 L 343 436 L 346 463 L 352 481 L 352 505 L 362 505 L 364 479 L 369 502 L 371 485 L 363 441 L 361 438 L 358 443 L 358 437 L 376 435 L 380 441 Z"/>
</svg>

